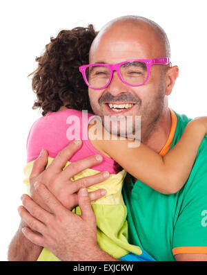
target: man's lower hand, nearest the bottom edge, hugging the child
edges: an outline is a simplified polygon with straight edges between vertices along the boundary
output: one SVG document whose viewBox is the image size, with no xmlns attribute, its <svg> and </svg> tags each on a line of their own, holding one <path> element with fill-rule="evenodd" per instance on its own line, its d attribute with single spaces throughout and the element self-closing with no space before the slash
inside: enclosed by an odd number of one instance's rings
<svg viewBox="0 0 207 275">
<path fill-rule="evenodd" d="M 36 182 L 34 188 L 50 212 L 28 195 L 21 197 L 19 215 L 28 224 L 23 234 L 35 245 L 46 247 L 61 260 L 115 260 L 97 245 L 95 214 L 86 188 L 77 195 L 81 215 L 70 212 L 52 193 Z"/>
</svg>

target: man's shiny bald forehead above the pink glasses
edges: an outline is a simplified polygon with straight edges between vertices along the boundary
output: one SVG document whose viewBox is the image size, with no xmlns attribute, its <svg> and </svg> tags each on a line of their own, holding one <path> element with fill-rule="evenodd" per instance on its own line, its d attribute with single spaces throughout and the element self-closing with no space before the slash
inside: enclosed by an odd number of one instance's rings
<svg viewBox="0 0 207 275">
<path fill-rule="evenodd" d="M 109 24 L 92 43 L 90 63 L 98 62 L 100 58 L 112 63 L 111 59 L 116 60 L 116 57 L 117 62 L 121 62 L 126 61 L 126 58 L 130 60 L 168 56 L 163 35 L 164 33 L 144 21 L 124 20 Z"/>
</svg>

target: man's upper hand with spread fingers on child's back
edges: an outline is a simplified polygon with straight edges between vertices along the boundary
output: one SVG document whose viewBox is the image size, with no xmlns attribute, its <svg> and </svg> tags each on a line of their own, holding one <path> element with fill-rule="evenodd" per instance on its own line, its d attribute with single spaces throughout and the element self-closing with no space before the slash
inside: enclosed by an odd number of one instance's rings
<svg viewBox="0 0 207 275">
<path fill-rule="evenodd" d="M 73 209 L 77 206 L 77 192 L 80 188 L 87 188 L 93 184 L 98 184 L 109 177 L 108 171 L 100 172 L 97 175 L 84 177 L 76 181 L 71 181 L 70 178 L 77 175 L 79 172 L 95 166 L 100 163 L 103 158 L 101 155 L 93 155 L 86 159 L 72 162 L 65 170 L 63 168 L 72 155 L 81 147 L 81 141 L 73 141 L 66 148 L 61 150 L 54 161 L 45 167 L 48 163 L 48 152 L 42 150 L 39 157 L 34 161 L 32 172 L 30 174 L 30 193 L 32 199 L 46 209 L 40 197 L 34 190 L 34 182 L 39 181 L 45 184 L 48 189 L 59 199 L 63 206 L 67 209 Z M 103 197 L 106 192 L 104 189 L 95 190 L 90 193 L 90 199 L 95 200 Z"/>
</svg>

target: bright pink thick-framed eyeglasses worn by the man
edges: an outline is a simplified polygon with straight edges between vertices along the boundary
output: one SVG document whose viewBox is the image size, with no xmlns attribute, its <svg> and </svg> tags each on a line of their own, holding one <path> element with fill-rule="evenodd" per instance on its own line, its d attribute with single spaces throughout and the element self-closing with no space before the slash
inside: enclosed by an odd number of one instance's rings
<svg viewBox="0 0 207 275">
<path fill-rule="evenodd" d="M 117 71 L 119 78 L 130 86 L 144 85 L 150 76 L 150 66 L 168 65 L 169 57 L 155 59 L 128 60 L 117 64 L 88 64 L 79 67 L 86 85 L 91 89 L 101 90 L 108 87 L 112 80 L 113 71 Z"/>
</svg>

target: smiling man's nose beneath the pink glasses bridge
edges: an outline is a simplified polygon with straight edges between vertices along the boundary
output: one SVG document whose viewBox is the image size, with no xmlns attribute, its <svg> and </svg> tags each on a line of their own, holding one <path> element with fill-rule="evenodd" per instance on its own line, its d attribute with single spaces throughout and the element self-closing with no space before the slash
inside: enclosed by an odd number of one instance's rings
<svg viewBox="0 0 207 275">
<path fill-rule="evenodd" d="M 117 94 L 128 92 L 128 85 L 126 85 L 120 78 L 117 71 L 114 71 L 112 74 L 112 80 L 108 87 L 106 87 L 107 91 L 110 92 L 113 96 Z"/>
</svg>

